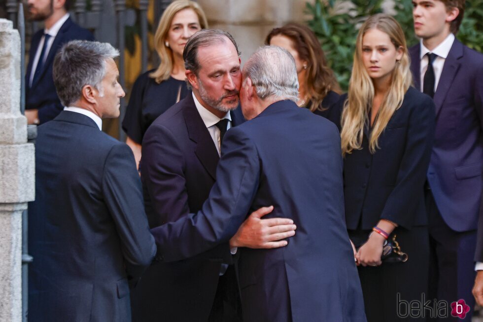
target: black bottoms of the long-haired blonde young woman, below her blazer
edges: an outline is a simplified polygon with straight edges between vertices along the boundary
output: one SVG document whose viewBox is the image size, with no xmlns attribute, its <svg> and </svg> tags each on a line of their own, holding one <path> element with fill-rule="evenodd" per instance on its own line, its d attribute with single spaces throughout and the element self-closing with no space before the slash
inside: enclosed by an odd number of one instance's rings
<svg viewBox="0 0 483 322">
<path fill-rule="evenodd" d="M 371 231 L 349 230 L 359 248 Z M 377 267 L 359 266 L 368 322 L 426 321 L 423 311 L 410 312 L 411 301 L 427 297 L 429 238 L 426 226 L 394 230 L 401 251 L 408 254 L 403 263 L 382 263 Z M 424 295 L 423 295 L 424 294 Z M 410 316 L 412 314 L 412 316 Z M 427 316 L 428 312 L 424 312 Z"/>
</svg>

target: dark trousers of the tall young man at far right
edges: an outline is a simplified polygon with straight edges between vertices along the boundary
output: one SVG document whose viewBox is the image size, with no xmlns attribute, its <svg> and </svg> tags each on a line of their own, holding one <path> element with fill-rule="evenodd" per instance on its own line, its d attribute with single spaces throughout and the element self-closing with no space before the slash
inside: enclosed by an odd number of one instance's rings
<svg viewBox="0 0 483 322">
<path fill-rule="evenodd" d="M 475 299 L 471 293 L 475 282 L 476 230 L 457 232 L 449 228 L 441 216 L 431 190 L 426 190 L 426 209 L 429 218 L 429 296 L 449 304 L 463 299 L 470 307 L 464 320 L 459 318 L 438 321 L 471 321 Z M 449 311 L 449 316 L 451 312 Z M 434 320 L 432 320 L 434 321 Z"/>
</svg>

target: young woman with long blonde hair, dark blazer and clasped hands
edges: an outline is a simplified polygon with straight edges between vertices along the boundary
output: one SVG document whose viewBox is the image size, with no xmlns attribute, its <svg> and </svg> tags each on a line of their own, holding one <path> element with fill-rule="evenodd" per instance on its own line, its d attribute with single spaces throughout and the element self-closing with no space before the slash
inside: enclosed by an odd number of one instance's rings
<svg viewBox="0 0 483 322">
<path fill-rule="evenodd" d="M 385 14 L 370 17 L 357 36 L 349 90 L 339 108 L 345 218 L 371 322 L 408 317 L 405 303 L 427 294 L 424 182 L 435 111 L 431 98 L 411 84 L 401 26 Z M 381 259 L 394 235 L 406 262 Z"/>
</svg>

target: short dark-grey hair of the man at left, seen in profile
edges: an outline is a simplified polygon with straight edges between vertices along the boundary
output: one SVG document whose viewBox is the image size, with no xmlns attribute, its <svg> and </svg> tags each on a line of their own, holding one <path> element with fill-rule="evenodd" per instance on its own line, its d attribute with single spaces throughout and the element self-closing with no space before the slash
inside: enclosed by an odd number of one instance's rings
<svg viewBox="0 0 483 322">
<path fill-rule="evenodd" d="M 66 43 L 54 59 L 53 78 L 57 95 L 64 106 L 80 99 L 85 85 L 103 94 L 101 82 L 106 73 L 105 62 L 115 59 L 119 51 L 107 42 L 73 40 Z"/>
</svg>

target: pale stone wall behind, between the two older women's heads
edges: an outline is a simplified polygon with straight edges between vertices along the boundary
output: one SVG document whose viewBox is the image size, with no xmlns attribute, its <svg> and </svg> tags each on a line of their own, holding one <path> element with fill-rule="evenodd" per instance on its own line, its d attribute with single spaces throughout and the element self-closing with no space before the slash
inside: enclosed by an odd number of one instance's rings
<svg viewBox="0 0 483 322">
<path fill-rule="evenodd" d="M 314 0 L 198 0 L 209 28 L 229 32 L 242 52 L 242 64 L 264 44 L 273 28 L 304 23 L 305 3 Z"/>
</svg>

